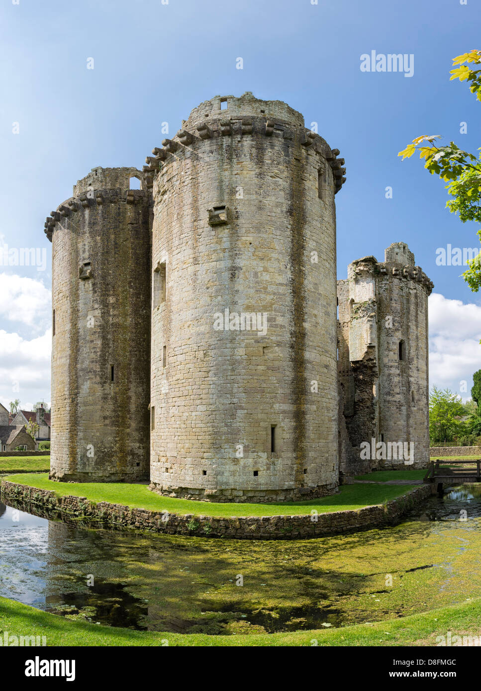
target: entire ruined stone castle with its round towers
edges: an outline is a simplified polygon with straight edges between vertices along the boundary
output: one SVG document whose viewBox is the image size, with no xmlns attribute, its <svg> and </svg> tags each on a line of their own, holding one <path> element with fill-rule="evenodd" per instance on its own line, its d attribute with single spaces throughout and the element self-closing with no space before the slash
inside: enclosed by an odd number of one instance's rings
<svg viewBox="0 0 481 691">
<path fill-rule="evenodd" d="M 152 153 L 94 168 L 46 220 L 50 478 L 269 502 L 426 464 L 433 283 L 404 243 L 337 281 L 339 151 L 247 92 Z"/>
</svg>

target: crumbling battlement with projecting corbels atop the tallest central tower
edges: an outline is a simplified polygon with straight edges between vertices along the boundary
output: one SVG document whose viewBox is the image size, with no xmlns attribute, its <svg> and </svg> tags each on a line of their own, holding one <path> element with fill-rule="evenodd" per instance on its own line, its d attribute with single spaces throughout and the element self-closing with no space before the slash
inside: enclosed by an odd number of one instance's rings
<svg viewBox="0 0 481 691">
<path fill-rule="evenodd" d="M 306 129 L 301 113 L 282 101 L 262 101 L 247 91 L 241 97 L 215 96 L 194 108 L 188 120 L 182 120 L 182 129 L 172 139 L 163 140 L 162 148 L 156 146 L 153 156 L 145 159 L 142 172 L 146 186 L 153 186 L 153 179 L 164 164 L 180 155 L 191 155 L 204 140 L 245 135 L 279 138 L 286 144 L 300 142 L 305 151 L 319 154 L 319 170 L 324 161 L 328 162 L 335 192 L 346 182 L 344 159 L 337 158 L 339 149 L 330 149 L 326 140 Z"/>
</svg>

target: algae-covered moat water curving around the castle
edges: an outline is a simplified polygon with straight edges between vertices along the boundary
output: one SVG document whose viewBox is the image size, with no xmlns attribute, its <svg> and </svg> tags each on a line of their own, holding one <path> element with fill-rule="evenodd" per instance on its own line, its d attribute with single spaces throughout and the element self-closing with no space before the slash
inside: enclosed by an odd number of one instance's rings
<svg viewBox="0 0 481 691">
<path fill-rule="evenodd" d="M 287 542 L 77 528 L 10 504 L 0 504 L 0 595 L 93 623 L 272 633 L 481 596 L 479 484 L 430 498 L 396 527 Z"/>
</svg>

